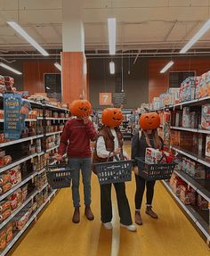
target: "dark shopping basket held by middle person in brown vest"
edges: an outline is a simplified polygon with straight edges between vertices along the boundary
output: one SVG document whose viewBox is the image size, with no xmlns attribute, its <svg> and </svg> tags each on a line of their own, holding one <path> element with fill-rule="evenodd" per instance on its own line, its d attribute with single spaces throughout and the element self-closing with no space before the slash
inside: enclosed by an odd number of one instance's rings
<svg viewBox="0 0 210 256">
<path fill-rule="evenodd" d="M 99 183 L 110 184 L 131 181 L 133 161 L 119 160 L 115 155 L 117 161 L 105 161 L 94 163 L 94 167 L 99 179 Z"/>
</svg>

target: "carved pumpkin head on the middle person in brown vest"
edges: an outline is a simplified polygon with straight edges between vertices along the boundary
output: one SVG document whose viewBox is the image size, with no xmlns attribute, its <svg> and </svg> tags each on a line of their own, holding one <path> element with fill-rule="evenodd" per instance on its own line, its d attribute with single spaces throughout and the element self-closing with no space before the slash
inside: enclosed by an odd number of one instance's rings
<svg viewBox="0 0 210 256">
<path fill-rule="evenodd" d="M 107 108 L 102 111 L 101 120 L 108 127 L 118 127 L 123 121 L 123 113 L 117 108 Z"/>
</svg>

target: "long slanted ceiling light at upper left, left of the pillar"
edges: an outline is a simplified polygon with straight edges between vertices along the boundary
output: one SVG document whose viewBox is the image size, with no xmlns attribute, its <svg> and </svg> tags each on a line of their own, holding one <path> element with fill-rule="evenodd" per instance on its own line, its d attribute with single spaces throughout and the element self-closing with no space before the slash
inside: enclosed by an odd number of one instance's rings
<svg viewBox="0 0 210 256">
<path fill-rule="evenodd" d="M 28 33 L 24 29 L 22 29 L 18 23 L 16 23 L 15 21 L 7 21 L 7 23 L 12 27 L 12 29 L 17 31 L 21 37 L 27 40 L 30 45 L 33 45 L 40 54 L 43 54 L 44 56 L 49 56 L 44 48 L 36 43 L 36 41 L 32 37 L 30 37 Z"/>
</svg>

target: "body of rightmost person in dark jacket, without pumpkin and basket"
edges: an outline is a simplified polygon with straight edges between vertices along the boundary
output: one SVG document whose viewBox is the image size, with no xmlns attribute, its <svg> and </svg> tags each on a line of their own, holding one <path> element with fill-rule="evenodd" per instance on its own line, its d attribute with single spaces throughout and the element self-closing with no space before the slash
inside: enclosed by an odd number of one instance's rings
<svg viewBox="0 0 210 256">
<path fill-rule="evenodd" d="M 141 121 L 140 121 L 141 123 Z M 158 129 L 141 129 L 133 136 L 132 140 L 132 159 L 135 157 L 141 157 L 145 159 L 145 151 L 147 147 L 153 147 L 157 149 L 163 148 L 163 141 L 158 136 Z M 139 176 L 139 169 L 136 161 L 133 164 L 133 170 L 135 173 L 136 192 L 135 192 L 135 223 L 142 225 L 141 219 L 141 203 L 145 186 L 147 186 L 147 202 L 146 213 L 153 219 L 158 219 L 158 215 L 152 211 L 152 200 L 154 195 L 155 181 L 147 181 Z M 140 170 L 141 171 L 141 170 Z"/>
</svg>

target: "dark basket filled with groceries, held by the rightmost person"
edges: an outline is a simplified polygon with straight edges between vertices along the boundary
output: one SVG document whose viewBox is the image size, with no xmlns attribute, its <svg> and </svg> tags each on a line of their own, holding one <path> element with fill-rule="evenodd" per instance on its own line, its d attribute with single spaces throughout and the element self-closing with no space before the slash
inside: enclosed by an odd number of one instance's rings
<svg viewBox="0 0 210 256">
<path fill-rule="evenodd" d="M 139 176 L 146 180 L 170 179 L 176 163 L 154 163 L 149 164 L 144 159 L 137 157 Z"/>
</svg>

